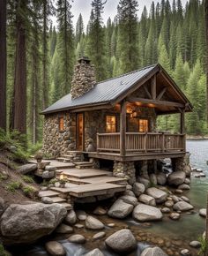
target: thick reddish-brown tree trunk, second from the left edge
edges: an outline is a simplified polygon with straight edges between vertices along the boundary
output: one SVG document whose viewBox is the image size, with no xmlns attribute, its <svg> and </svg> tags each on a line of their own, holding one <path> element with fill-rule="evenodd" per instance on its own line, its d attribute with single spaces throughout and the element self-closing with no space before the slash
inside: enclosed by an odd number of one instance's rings
<svg viewBox="0 0 208 256">
<path fill-rule="evenodd" d="M 26 0 L 19 0 L 19 9 Z M 17 12 L 17 45 L 14 79 L 14 129 L 26 133 L 26 28 L 22 14 Z"/>
</svg>

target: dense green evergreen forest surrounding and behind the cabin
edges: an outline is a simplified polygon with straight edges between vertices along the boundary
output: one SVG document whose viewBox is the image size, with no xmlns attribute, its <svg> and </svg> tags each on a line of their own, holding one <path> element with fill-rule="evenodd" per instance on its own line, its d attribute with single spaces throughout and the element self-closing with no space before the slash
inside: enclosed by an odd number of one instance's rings
<svg viewBox="0 0 208 256">
<path fill-rule="evenodd" d="M 205 1 L 152 2 L 138 16 L 139 0 L 120 0 L 107 24 L 106 1 L 91 2 L 85 27 L 81 13 L 73 25 L 71 0 L 0 0 L 0 126 L 41 142 L 41 110 L 70 93 L 74 65 L 88 56 L 97 81 L 160 63 L 194 106 L 186 132 L 207 134 Z M 158 129 L 175 132 L 179 120 L 160 117 Z"/>
</svg>

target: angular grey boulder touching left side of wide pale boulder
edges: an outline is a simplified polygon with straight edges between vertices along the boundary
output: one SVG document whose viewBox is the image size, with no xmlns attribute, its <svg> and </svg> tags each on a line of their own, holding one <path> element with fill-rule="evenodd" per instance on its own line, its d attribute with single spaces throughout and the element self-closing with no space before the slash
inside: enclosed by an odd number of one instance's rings
<svg viewBox="0 0 208 256">
<path fill-rule="evenodd" d="M 108 215 L 113 218 L 123 219 L 130 215 L 133 211 L 133 206 L 123 202 L 123 200 L 116 200 L 112 207 L 108 210 Z"/>
</svg>

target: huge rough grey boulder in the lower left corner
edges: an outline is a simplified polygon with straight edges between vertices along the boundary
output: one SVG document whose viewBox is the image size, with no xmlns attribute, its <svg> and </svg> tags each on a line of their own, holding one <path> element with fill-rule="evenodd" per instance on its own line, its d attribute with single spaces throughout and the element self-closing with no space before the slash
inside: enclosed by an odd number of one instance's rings
<svg viewBox="0 0 208 256">
<path fill-rule="evenodd" d="M 56 230 L 67 210 L 60 204 L 11 204 L 1 217 L 4 244 L 30 244 Z"/>
</svg>

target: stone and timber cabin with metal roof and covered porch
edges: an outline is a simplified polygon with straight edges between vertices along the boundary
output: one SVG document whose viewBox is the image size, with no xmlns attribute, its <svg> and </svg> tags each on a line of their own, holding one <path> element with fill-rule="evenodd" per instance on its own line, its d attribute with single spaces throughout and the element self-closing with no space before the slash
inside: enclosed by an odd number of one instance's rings
<svg viewBox="0 0 208 256">
<path fill-rule="evenodd" d="M 97 83 L 93 64 L 83 56 L 74 69 L 71 94 L 42 111 L 43 151 L 55 156 L 83 154 L 97 167 L 101 161 L 114 162 L 115 176 L 128 173 L 132 184 L 137 164 L 147 171 L 152 162 L 155 166 L 157 160 L 170 158 L 182 169 L 184 117 L 191 110 L 160 64 Z M 158 131 L 157 117 L 175 113 L 180 131 Z"/>
</svg>

